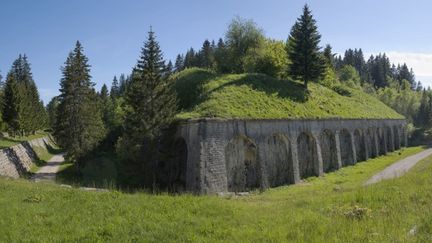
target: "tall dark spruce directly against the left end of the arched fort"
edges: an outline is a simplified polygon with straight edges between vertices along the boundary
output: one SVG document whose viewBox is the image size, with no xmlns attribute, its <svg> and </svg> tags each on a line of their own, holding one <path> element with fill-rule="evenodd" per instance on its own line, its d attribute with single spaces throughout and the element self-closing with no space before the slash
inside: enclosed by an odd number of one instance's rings
<svg viewBox="0 0 432 243">
<path fill-rule="evenodd" d="M 176 113 L 173 82 L 164 75 L 165 69 L 159 43 L 150 29 L 126 92 L 124 132 L 117 146 L 132 172 L 142 172 L 144 183 L 155 182 L 158 140 Z"/>
</svg>

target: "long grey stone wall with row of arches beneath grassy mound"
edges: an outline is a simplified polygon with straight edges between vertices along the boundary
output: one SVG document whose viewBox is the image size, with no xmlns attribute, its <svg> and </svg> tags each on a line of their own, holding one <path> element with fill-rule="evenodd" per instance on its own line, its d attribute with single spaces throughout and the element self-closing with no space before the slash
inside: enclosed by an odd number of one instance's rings
<svg viewBox="0 0 432 243">
<path fill-rule="evenodd" d="M 297 183 L 407 145 L 405 120 L 189 121 L 177 136 L 186 190 L 239 192 Z"/>
</svg>

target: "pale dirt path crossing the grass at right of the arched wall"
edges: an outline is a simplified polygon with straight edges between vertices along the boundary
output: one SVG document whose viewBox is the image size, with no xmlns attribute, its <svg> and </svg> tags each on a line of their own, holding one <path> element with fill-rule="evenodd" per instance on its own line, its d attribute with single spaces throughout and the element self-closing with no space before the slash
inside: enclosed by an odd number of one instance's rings
<svg viewBox="0 0 432 243">
<path fill-rule="evenodd" d="M 432 155 L 432 148 L 426 149 L 418 154 L 411 155 L 405 159 L 399 160 L 398 162 L 388 166 L 378 174 L 372 176 L 365 185 L 374 184 L 380 182 L 381 180 L 396 178 L 404 175 L 408 172 L 414 165 L 424 158 Z"/>
</svg>

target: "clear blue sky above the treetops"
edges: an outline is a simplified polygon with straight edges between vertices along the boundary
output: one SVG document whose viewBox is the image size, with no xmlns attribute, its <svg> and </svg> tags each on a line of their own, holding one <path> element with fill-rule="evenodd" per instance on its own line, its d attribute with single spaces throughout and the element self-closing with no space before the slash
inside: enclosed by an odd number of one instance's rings
<svg viewBox="0 0 432 243">
<path fill-rule="evenodd" d="M 286 40 L 302 6 L 309 4 L 322 35 L 343 54 L 386 52 L 406 62 L 432 86 L 432 1 L 430 0 L 1 0 L 0 73 L 26 54 L 45 104 L 59 89 L 60 68 L 79 40 L 96 88 L 114 75 L 130 73 L 150 26 L 166 59 L 205 39 L 224 36 L 235 16 L 253 19 L 267 37 Z"/>
</svg>

